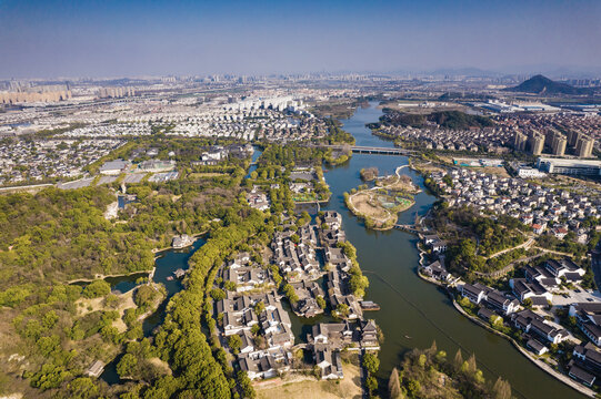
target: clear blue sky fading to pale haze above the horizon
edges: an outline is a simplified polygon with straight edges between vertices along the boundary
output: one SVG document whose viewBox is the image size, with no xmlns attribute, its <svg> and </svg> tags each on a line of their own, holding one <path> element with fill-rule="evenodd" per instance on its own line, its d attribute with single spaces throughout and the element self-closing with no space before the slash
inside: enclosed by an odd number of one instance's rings
<svg viewBox="0 0 601 399">
<path fill-rule="evenodd" d="M 0 79 L 601 71 L 598 0 L 0 0 Z"/>
</svg>

